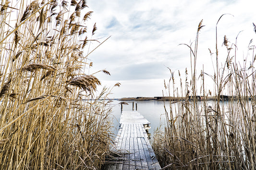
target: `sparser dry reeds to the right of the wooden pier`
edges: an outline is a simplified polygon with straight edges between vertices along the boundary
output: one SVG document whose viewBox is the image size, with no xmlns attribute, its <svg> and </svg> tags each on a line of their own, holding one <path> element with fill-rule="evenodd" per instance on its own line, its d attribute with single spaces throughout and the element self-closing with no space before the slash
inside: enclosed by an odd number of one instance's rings
<svg viewBox="0 0 256 170">
<path fill-rule="evenodd" d="M 227 54 L 222 54 L 221 57 L 225 56 L 226 62 L 220 65 L 217 24 L 215 54 L 210 51 L 210 55 L 215 55 L 216 58 L 215 72 L 210 75 L 203 69 L 199 76 L 201 84 L 199 88 L 197 87 L 196 57 L 198 33 L 202 28 L 201 21 L 197 29 L 195 48 L 187 45 L 191 54 L 191 82 L 188 80 L 189 75 L 186 70 L 185 82 L 182 79 L 180 82 L 180 93 L 175 87 L 173 76 L 166 86 L 167 93 L 170 94 L 173 90 L 176 97 L 184 94 L 185 99 L 175 104 L 170 100 L 170 109 L 167 107 L 168 103 L 165 104 L 167 119 L 165 131 L 154 134 L 152 146 L 163 169 L 253 170 L 256 168 L 256 72 L 253 67 L 256 59 L 255 46 L 251 45 L 252 41 L 248 46 L 248 54 L 253 58 L 248 69 L 247 60 L 244 61 L 244 66 L 236 64 L 237 45 L 236 43 L 230 45 L 227 37 L 224 36 L 223 45 L 227 49 Z M 231 53 L 234 54 L 233 57 Z M 207 77 L 212 79 L 213 90 L 205 87 Z M 228 102 L 223 102 L 222 94 L 232 97 Z M 197 98 L 189 100 L 189 96 L 196 95 L 202 96 L 203 100 L 198 101 Z M 210 95 L 216 96 L 212 103 L 207 101 Z"/>
</svg>

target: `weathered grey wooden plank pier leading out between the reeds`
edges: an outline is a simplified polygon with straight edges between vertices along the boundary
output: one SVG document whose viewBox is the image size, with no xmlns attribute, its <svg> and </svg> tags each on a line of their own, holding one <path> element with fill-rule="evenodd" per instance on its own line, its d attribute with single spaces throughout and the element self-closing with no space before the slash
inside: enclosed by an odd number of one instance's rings
<svg viewBox="0 0 256 170">
<path fill-rule="evenodd" d="M 108 170 L 160 170 L 156 155 L 148 141 L 150 123 L 137 111 L 123 111 Z"/>
</svg>

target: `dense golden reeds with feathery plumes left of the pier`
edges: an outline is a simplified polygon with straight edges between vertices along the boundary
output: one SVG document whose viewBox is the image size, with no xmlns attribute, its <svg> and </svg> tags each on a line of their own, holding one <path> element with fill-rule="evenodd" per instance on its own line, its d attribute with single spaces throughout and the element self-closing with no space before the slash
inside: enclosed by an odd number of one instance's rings
<svg viewBox="0 0 256 170">
<path fill-rule="evenodd" d="M 111 108 L 84 74 L 92 11 L 85 0 L 26 3 L 0 6 L 0 169 L 100 169 Z"/>
</svg>

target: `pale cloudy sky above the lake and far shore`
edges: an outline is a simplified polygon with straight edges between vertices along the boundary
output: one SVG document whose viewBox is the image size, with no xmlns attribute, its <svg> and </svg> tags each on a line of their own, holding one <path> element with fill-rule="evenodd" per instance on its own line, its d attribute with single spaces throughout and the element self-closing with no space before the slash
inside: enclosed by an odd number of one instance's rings
<svg viewBox="0 0 256 170">
<path fill-rule="evenodd" d="M 249 67 L 248 61 L 253 60 L 248 45 L 256 38 L 255 0 L 87 0 L 87 5 L 94 11 L 88 27 L 96 23 L 98 28 L 92 39 L 103 42 L 111 36 L 88 57 L 93 62 L 90 73 L 106 69 L 111 74 L 95 74 L 102 87 L 121 83 L 113 88 L 110 98 L 162 96 L 164 80 L 169 82 L 171 76 L 169 68 L 179 84 L 178 71 L 184 78 L 185 69 L 190 70 L 190 50 L 180 44 L 195 45 L 202 19 L 205 26 L 199 32 L 197 75 L 203 68 L 207 74 L 214 73 L 216 57 L 211 57 L 208 49 L 216 53 L 216 23 L 222 14 L 228 13 L 217 27 L 220 63 L 227 57 L 222 46 L 224 35 L 230 45 L 237 37 L 241 67 Z M 90 50 L 97 45 L 92 42 Z M 207 82 L 206 88 L 212 84 Z"/>
</svg>

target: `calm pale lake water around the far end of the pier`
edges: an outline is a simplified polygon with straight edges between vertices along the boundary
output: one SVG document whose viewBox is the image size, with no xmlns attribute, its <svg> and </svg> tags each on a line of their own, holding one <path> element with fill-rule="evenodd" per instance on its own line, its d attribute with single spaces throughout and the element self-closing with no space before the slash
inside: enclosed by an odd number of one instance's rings
<svg viewBox="0 0 256 170">
<path fill-rule="evenodd" d="M 154 131 L 161 126 L 160 129 L 163 130 L 165 124 L 166 124 L 166 116 L 165 116 L 165 109 L 164 109 L 164 103 L 166 107 L 167 113 L 170 115 L 170 103 L 169 102 L 163 102 L 163 101 L 113 101 L 111 103 L 111 106 L 113 107 L 113 112 L 111 113 L 113 118 L 113 127 L 112 132 L 116 135 L 118 133 L 119 129 L 119 121 L 121 116 L 121 105 L 118 104 L 120 102 L 126 102 L 128 105 L 123 105 L 123 111 L 132 111 L 133 109 L 133 102 L 134 106 L 135 103 L 137 103 L 137 111 L 141 113 L 149 122 L 151 128 L 148 130 L 149 135 L 152 137 L 154 134 Z M 172 114 L 173 117 L 178 115 L 179 107 L 178 102 L 174 102 L 171 104 L 172 107 Z M 206 101 L 206 106 L 209 108 L 215 108 L 216 102 L 214 101 Z M 220 102 L 220 109 L 222 113 L 229 113 L 229 102 L 223 101 Z M 192 106 L 192 102 L 190 102 L 190 106 Z M 199 111 L 203 111 L 203 102 L 197 102 L 197 106 Z M 135 108 L 135 107 L 134 107 Z M 192 108 L 190 108 L 193 110 Z M 228 121 L 228 116 L 225 115 L 225 120 Z"/>
</svg>

